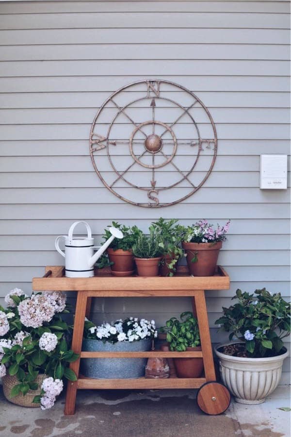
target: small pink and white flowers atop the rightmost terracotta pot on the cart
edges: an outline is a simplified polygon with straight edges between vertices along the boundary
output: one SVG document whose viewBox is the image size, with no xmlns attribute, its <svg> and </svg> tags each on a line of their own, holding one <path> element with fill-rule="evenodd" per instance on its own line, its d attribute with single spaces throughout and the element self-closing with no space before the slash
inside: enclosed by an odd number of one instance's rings
<svg viewBox="0 0 291 437">
<path fill-rule="evenodd" d="M 187 243 L 213 244 L 219 241 L 225 241 L 229 225 L 230 220 L 228 220 L 224 226 L 217 225 L 217 228 L 213 229 L 213 225 L 208 223 L 207 220 L 197 221 L 192 226 L 186 228 L 184 241 Z"/>
</svg>

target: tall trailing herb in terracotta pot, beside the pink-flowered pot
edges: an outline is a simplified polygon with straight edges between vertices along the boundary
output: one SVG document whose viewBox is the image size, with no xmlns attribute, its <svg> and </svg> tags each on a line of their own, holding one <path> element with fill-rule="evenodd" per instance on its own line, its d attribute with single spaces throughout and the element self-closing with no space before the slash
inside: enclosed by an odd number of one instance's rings
<svg viewBox="0 0 291 437">
<path fill-rule="evenodd" d="M 178 225 L 177 222 L 177 218 L 165 220 L 161 217 L 158 221 L 152 222 L 150 226 L 157 235 L 161 236 L 162 240 L 160 242 L 160 247 L 163 250 L 160 264 L 162 276 L 173 276 L 177 271 L 178 260 L 184 255 L 181 247 L 184 227 Z"/>
</svg>

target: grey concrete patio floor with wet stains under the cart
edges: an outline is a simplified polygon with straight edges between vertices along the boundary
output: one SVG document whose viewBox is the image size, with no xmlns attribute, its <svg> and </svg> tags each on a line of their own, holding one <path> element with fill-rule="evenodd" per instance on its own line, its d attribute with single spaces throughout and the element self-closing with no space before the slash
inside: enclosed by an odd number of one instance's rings
<svg viewBox="0 0 291 437">
<path fill-rule="evenodd" d="M 90 437 L 281 437 L 290 436 L 290 387 L 279 386 L 260 405 L 232 401 L 220 416 L 202 413 L 196 390 L 79 391 L 75 416 L 64 416 L 65 399 L 54 408 L 8 403 L 0 387 L 0 436 Z"/>
</svg>

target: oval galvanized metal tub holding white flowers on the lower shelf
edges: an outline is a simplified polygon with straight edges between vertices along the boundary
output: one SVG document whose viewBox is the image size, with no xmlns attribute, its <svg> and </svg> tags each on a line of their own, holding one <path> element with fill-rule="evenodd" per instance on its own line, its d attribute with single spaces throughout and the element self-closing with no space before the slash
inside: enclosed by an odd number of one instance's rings
<svg viewBox="0 0 291 437">
<path fill-rule="evenodd" d="M 143 352 L 149 351 L 151 339 L 103 343 L 101 340 L 84 339 L 82 351 L 86 352 Z M 145 375 L 147 358 L 83 358 L 81 373 L 89 378 L 115 379 L 140 378 Z"/>
</svg>

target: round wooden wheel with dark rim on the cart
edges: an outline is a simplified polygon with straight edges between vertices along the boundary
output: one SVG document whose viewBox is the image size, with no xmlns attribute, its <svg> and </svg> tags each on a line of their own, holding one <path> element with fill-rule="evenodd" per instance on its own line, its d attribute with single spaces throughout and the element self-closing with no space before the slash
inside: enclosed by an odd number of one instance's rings
<svg viewBox="0 0 291 437">
<path fill-rule="evenodd" d="M 221 383 L 210 381 L 201 386 L 197 393 L 199 408 L 206 414 L 215 416 L 224 413 L 230 404 L 230 393 Z"/>
</svg>

